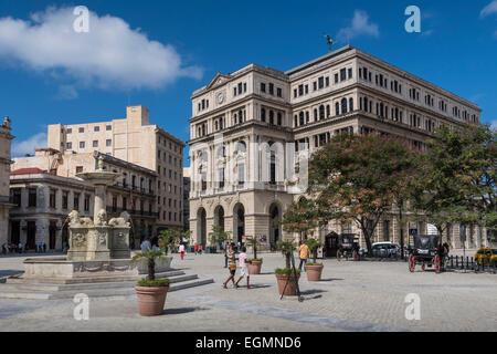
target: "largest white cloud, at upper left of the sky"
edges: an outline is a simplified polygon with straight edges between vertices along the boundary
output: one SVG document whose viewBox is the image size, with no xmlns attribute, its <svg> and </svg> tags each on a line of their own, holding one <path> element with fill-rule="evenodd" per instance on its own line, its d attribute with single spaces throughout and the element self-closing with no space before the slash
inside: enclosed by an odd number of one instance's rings
<svg viewBox="0 0 497 354">
<path fill-rule="evenodd" d="M 169 44 L 149 40 L 123 19 L 89 12 L 89 32 L 77 33 L 72 8 L 47 8 L 30 20 L 0 19 L 0 59 L 64 80 L 101 88 L 158 88 L 179 77 L 200 79 L 201 69 L 184 66 Z M 71 87 L 72 85 L 72 87 Z M 70 88 L 71 87 L 71 88 Z M 61 92 L 60 92 L 61 93 Z"/>
</svg>

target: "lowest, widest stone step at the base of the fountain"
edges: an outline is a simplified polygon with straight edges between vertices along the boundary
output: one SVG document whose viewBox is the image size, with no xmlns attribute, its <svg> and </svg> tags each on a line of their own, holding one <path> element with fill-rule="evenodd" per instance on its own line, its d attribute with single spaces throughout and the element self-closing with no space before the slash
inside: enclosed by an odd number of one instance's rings
<svg viewBox="0 0 497 354">
<path fill-rule="evenodd" d="M 214 280 L 211 278 L 201 278 L 197 275 L 189 280 L 171 282 L 169 287 L 169 292 L 179 291 L 193 287 L 201 287 L 205 284 L 213 283 Z M 136 296 L 136 291 L 134 289 L 135 283 L 130 283 L 127 287 L 120 288 L 106 288 L 106 289 L 81 289 L 78 291 L 67 290 L 59 292 L 43 292 L 43 291 L 27 291 L 27 290 L 3 290 L 0 285 L 0 299 L 19 299 L 19 300 L 62 300 L 62 299 L 73 299 L 78 293 L 85 293 L 89 299 L 94 298 L 123 298 L 123 296 Z"/>
</svg>

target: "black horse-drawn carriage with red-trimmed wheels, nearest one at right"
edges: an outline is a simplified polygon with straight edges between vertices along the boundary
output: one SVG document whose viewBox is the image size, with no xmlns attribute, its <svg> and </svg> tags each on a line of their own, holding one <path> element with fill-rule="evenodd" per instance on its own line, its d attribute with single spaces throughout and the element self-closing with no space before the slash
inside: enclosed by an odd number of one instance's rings
<svg viewBox="0 0 497 354">
<path fill-rule="evenodd" d="M 409 270 L 414 272 L 417 264 L 424 271 L 426 267 L 435 268 L 437 274 L 442 271 L 444 262 L 444 252 L 441 251 L 437 235 L 413 235 L 414 247 L 412 247 L 409 257 Z"/>
</svg>

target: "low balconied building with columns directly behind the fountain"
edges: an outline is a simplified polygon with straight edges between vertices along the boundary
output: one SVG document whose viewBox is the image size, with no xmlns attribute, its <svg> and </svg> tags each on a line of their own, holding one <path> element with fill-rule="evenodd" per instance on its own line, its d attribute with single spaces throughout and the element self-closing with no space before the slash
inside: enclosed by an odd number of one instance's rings
<svg viewBox="0 0 497 354">
<path fill-rule="evenodd" d="M 158 217 L 155 170 L 97 152 L 63 155 L 47 148 L 36 149 L 35 156 L 14 158 L 10 195 L 17 207 L 10 211 L 11 242 L 44 242 L 49 250 L 62 249 L 68 212 L 77 210 L 93 217 L 94 187 L 76 175 L 95 171 L 101 155 L 104 169 L 123 175 L 121 180 L 107 187 L 108 218 L 123 211 L 131 216 L 135 247 L 152 235 Z"/>
</svg>

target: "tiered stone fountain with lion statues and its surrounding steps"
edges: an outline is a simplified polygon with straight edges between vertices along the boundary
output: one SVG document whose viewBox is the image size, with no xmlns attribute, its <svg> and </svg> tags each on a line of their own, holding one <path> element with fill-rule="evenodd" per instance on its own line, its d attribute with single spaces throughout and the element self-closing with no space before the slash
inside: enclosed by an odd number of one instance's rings
<svg viewBox="0 0 497 354">
<path fill-rule="evenodd" d="M 72 299 L 81 292 L 95 298 L 135 295 L 136 281 L 147 274 L 147 261 L 131 262 L 129 215 L 123 212 L 107 222 L 105 211 L 106 189 L 121 175 L 104 170 L 101 156 L 97 170 L 77 177 L 95 187 L 93 220 L 72 211 L 67 257 L 27 259 L 23 274 L 10 277 L 0 284 L 0 299 Z M 172 257 L 156 259 L 156 277 L 170 279 L 169 291 L 213 282 L 211 278 L 173 270 L 171 261 Z"/>
</svg>

